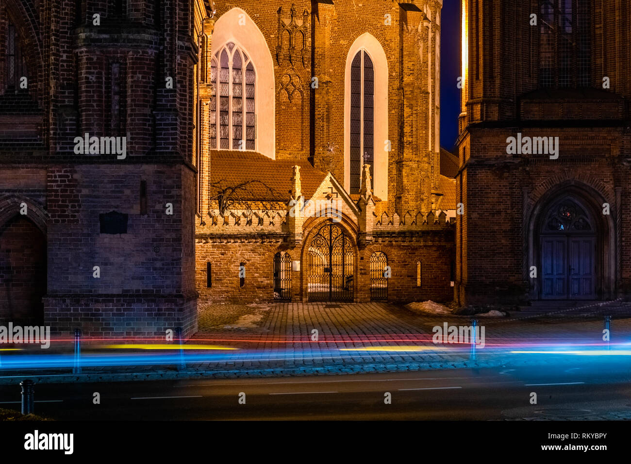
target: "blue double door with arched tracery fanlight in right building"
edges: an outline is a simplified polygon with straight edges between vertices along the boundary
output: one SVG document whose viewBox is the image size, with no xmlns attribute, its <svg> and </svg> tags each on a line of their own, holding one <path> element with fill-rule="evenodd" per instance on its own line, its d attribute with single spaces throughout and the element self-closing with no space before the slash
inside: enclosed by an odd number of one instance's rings
<svg viewBox="0 0 631 464">
<path fill-rule="evenodd" d="M 589 209 L 567 196 L 543 216 L 541 299 L 596 298 L 597 229 Z"/>
</svg>

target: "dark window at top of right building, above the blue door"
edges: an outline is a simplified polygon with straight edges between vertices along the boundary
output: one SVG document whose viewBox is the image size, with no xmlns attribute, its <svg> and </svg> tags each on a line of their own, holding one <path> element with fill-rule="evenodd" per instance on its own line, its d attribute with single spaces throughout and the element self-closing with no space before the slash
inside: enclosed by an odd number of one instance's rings
<svg viewBox="0 0 631 464">
<path fill-rule="evenodd" d="M 541 87 L 590 85 L 589 0 L 540 0 Z"/>
</svg>

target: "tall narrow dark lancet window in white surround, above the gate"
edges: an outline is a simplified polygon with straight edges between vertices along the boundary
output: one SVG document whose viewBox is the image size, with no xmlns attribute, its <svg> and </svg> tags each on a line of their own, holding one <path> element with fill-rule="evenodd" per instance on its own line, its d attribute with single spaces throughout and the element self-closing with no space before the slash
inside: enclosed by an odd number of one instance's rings
<svg viewBox="0 0 631 464">
<path fill-rule="evenodd" d="M 369 54 L 360 50 L 351 64 L 350 182 L 351 193 L 359 193 L 362 165 L 374 164 L 374 66 Z M 374 175 L 374 173 L 372 174 Z"/>
</svg>

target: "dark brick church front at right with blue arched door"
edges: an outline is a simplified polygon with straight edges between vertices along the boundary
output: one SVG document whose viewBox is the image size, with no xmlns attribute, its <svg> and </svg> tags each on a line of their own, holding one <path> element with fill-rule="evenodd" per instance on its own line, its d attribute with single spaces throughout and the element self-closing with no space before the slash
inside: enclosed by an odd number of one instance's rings
<svg viewBox="0 0 631 464">
<path fill-rule="evenodd" d="M 462 11 L 456 301 L 627 297 L 631 6 L 463 0 Z"/>
</svg>

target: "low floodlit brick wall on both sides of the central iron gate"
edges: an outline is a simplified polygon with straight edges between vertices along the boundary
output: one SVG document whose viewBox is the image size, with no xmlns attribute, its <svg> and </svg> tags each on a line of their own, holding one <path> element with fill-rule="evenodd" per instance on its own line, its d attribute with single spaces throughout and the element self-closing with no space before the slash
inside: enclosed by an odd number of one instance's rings
<svg viewBox="0 0 631 464">
<path fill-rule="evenodd" d="M 274 298 L 274 254 L 284 251 L 292 261 L 302 261 L 300 271 L 292 271 L 294 301 L 308 300 L 307 275 L 309 268 L 302 258 L 302 246 L 292 247 L 287 237 L 257 237 L 230 234 L 216 237 L 198 236 L 196 281 L 199 302 L 262 303 Z M 375 242 L 361 247 L 355 256 L 355 290 L 357 302 L 370 300 L 370 256 L 386 253 L 392 277 L 389 278 L 388 300 L 410 302 L 453 299 L 451 265 L 455 260 L 454 231 L 452 228 L 434 232 L 407 234 L 380 233 Z M 421 263 L 421 285 L 418 287 L 416 263 Z M 211 264 L 212 287 L 207 284 L 207 263 Z M 240 287 L 239 266 L 245 263 L 244 287 Z"/>
</svg>

